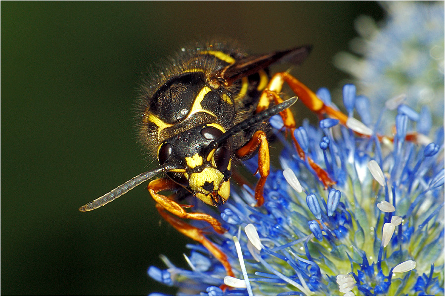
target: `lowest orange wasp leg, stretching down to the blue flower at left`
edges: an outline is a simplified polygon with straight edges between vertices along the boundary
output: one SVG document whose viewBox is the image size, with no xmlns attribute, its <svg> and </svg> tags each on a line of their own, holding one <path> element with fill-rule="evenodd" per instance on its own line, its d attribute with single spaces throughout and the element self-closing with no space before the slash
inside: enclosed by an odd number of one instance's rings
<svg viewBox="0 0 445 297">
<path fill-rule="evenodd" d="M 223 253 L 221 249 L 219 249 L 215 244 L 209 241 L 203 235 L 203 231 L 201 229 L 194 227 L 190 224 L 187 224 L 173 215 L 170 215 L 169 213 L 166 212 L 166 209 L 159 203 L 156 204 L 156 208 L 158 209 L 159 214 L 161 214 L 161 216 L 167 222 L 169 222 L 170 225 L 172 225 L 176 230 L 178 230 L 183 235 L 188 236 L 189 238 L 199 242 L 204 247 L 206 247 L 210 251 L 210 253 L 212 253 L 214 257 L 217 258 L 218 261 L 221 262 L 221 264 L 223 264 L 228 276 L 235 277 L 235 275 L 232 272 L 232 267 L 230 266 L 225 253 Z"/>
</svg>

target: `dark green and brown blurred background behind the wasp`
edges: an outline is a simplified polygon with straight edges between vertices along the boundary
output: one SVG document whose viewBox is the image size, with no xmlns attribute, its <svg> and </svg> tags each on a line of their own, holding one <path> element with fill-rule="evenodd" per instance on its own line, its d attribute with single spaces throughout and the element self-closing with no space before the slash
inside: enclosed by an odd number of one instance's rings
<svg viewBox="0 0 445 297">
<path fill-rule="evenodd" d="M 332 65 L 376 2 L 1 2 L 1 295 L 147 295 L 159 254 L 185 267 L 189 241 L 145 187 L 78 207 L 148 170 L 132 106 L 141 74 L 191 40 L 253 52 L 312 44 L 293 70 L 338 88 Z M 285 69 L 281 69 L 285 70 Z M 305 109 L 302 105 L 297 108 Z M 300 118 L 306 115 L 300 115 Z"/>
</svg>

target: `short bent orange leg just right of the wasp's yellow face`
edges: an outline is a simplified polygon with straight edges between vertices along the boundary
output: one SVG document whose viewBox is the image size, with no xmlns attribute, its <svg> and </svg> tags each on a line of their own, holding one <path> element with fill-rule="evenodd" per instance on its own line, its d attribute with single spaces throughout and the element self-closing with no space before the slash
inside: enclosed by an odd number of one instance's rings
<svg viewBox="0 0 445 297">
<path fill-rule="evenodd" d="M 254 133 L 252 138 L 247 144 L 239 148 L 236 152 L 240 158 L 250 158 L 258 149 L 258 170 L 260 173 L 260 179 L 255 187 L 255 200 L 257 200 L 257 206 L 261 206 L 264 203 L 264 185 L 269 175 L 270 158 L 269 158 L 269 146 L 267 143 L 266 133 L 259 130 Z"/>
</svg>

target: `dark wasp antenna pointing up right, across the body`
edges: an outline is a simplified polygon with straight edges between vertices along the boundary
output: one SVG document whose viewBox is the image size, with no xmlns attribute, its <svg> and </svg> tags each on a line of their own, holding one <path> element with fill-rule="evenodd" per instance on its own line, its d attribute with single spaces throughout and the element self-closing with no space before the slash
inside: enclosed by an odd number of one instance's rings
<svg viewBox="0 0 445 297">
<path fill-rule="evenodd" d="M 209 148 L 211 149 L 211 151 L 214 151 L 214 149 L 221 146 L 221 144 L 223 144 L 223 142 L 226 141 L 227 138 L 229 138 L 230 136 L 233 136 L 238 132 L 244 131 L 244 130 L 252 127 L 254 124 L 262 122 L 262 121 L 270 118 L 272 115 L 275 115 L 275 114 L 283 111 L 284 109 L 289 108 L 290 106 L 292 106 L 292 104 L 297 102 L 297 100 L 298 100 L 297 97 L 289 98 L 279 104 L 276 104 L 272 107 L 269 107 L 255 115 L 251 116 L 250 118 L 242 121 L 241 123 L 236 124 L 229 130 L 227 130 L 223 135 L 221 135 L 220 138 L 211 142 L 209 144 Z"/>
</svg>

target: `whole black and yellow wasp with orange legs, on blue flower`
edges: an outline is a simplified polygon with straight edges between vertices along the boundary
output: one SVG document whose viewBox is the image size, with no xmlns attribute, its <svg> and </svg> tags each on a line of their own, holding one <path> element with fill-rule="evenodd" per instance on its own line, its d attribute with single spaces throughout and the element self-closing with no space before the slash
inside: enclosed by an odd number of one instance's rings
<svg viewBox="0 0 445 297">
<path fill-rule="evenodd" d="M 291 132 L 295 130 L 295 120 L 288 108 L 297 97 L 282 99 L 280 93 L 285 83 L 312 111 L 344 116 L 325 106 L 289 73 L 269 76 L 271 64 L 300 64 L 310 51 L 310 46 L 302 46 L 248 55 L 225 43 L 182 49 L 141 91 L 139 138 L 157 157 L 159 166 L 79 210 L 96 209 L 162 175 L 147 187 L 161 216 L 179 232 L 203 244 L 223 264 L 227 275 L 234 276 L 225 254 L 201 229 L 182 219 L 205 221 L 223 234 L 221 223 L 209 214 L 186 211 L 192 205 L 179 204 L 179 198 L 181 193 L 188 193 L 209 205 L 225 203 L 230 194 L 232 163 L 249 159 L 258 152 L 260 178 L 255 199 L 257 206 L 263 204 L 269 174 L 267 120 L 279 113 L 284 127 Z M 305 156 L 295 137 L 293 140 L 299 156 L 306 158 L 325 187 L 333 185 L 326 172 Z M 178 191 L 178 194 L 167 197 L 160 193 L 163 191 Z"/>
</svg>

